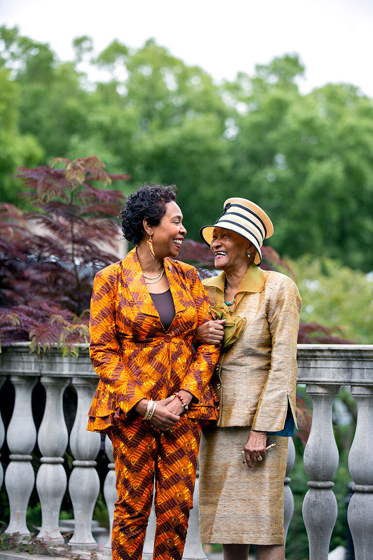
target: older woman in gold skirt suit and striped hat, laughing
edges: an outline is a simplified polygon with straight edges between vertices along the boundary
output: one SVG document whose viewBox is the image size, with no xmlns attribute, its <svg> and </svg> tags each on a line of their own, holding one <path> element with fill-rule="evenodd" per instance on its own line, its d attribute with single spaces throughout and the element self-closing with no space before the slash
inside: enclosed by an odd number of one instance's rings
<svg viewBox="0 0 373 560">
<path fill-rule="evenodd" d="M 284 477 L 287 438 L 296 433 L 296 340 L 301 298 L 295 283 L 259 268 L 273 233 L 267 214 L 230 198 L 201 237 L 222 270 L 204 281 L 216 319 L 226 319 L 212 377 L 219 419 L 203 431 L 200 524 L 205 543 L 223 543 L 224 560 L 284 560 Z M 210 321 L 195 342 L 219 343 Z M 268 446 L 273 445 L 270 449 Z M 266 450 L 267 448 L 267 450 Z"/>
</svg>

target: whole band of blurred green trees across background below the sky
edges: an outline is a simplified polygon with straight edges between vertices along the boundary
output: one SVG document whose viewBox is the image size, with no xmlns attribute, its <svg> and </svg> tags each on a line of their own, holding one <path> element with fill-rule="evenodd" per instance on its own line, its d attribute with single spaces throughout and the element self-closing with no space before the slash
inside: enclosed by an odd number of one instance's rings
<svg viewBox="0 0 373 560">
<path fill-rule="evenodd" d="M 16 200 L 17 165 L 95 153 L 112 171 L 128 170 L 125 193 L 145 180 L 176 183 L 192 239 L 239 195 L 271 216 L 278 253 L 372 269 L 373 105 L 356 87 L 302 95 L 296 55 L 216 85 L 154 40 L 139 49 L 114 40 L 89 60 L 83 36 L 64 63 L 17 29 L 2 27 L 0 44 L 5 202 Z M 82 60 L 108 79 L 89 83 Z"/>
</svg>

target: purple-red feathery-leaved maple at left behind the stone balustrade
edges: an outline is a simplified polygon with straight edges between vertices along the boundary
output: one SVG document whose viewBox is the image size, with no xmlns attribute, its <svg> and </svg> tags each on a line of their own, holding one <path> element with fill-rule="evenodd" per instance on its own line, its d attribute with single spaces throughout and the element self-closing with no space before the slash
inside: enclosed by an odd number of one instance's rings
<svg viewBox="0 0 373 560">
<path fill-rule="evenodd" d="M 64 169 L 18 169 L 32 211 L 0 207 L 0 336 L 64 350 L 87 340 L 87 309 L 95 272 L 118 260 L 117 190 L 97 188 L 110 175 L 96 157 L 57 159 Z M 105 250 L 105 247 L 107 248 Z"/>
</svg>

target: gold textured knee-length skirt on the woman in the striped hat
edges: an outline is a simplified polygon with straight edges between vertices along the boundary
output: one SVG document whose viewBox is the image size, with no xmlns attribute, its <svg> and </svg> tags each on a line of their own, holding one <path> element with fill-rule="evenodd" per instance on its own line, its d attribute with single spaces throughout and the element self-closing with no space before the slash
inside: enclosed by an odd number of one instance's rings
<svg viewBox="0 0 373 560">
<path fill-rule="evenodd" d="M 284 544 L 287 437 L 250 470 L 242 463 L 250 427 L 205 428 L 200 447 L 202 543 Z"/>
</svg>

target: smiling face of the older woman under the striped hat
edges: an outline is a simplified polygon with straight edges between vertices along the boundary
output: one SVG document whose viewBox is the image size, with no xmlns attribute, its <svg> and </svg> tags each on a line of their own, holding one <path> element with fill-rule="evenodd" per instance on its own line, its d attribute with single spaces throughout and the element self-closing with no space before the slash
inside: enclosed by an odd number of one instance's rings
<svg viewBox="0 0 373 560">
<path fill-rule="evenodd" d="M 225 272 L 248 266 L 254 261 L 255 250 L 251 242 L 223 227 L 215 227 L 210 248 L 214 253 L 215 268 Z M 247 256 L 248 252 L 251 254 L 250 258 Z"/>
</svg>

